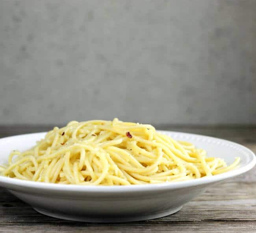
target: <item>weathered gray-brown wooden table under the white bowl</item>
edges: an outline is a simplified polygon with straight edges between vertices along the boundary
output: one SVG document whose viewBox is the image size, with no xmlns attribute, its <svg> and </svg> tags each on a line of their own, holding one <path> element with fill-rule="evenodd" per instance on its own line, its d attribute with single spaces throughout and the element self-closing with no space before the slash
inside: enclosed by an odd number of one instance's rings
<svg viewBox="0 0 256 233">
<path fill-rule="evenodd" d="M 39 132 L 50 127 L 0 127 L 0 137 Z M 229 139 L 256 153 L 255 127 L 170 127 Z M 256 167 L 250 172 L 209 188 L 173 215 L 142 222 L 95 224 L 72 222 L 41 215 L 6 189 L 0 188 L 0 233 L 143 233 L 207 232 L 256 233 Z"/>
</svg>

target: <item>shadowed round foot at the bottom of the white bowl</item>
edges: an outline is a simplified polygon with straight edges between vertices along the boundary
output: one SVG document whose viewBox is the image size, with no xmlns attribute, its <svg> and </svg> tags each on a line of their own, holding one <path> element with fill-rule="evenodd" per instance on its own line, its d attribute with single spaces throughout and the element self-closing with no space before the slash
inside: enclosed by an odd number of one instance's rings
<svg viewBox="0 0 256 233">
<path fill-rule="evenodd" d="M 122 215 L 115 215 L 115 216 L 108 216 L 108 215 L 102 215 L 102 216 L 89 216 L 89 215 L 75 215 L 75 214 L 68 214 L 68 213 L 62 213 L 62 212 L 56 212 L 51 211 L 47 209 L 42 209 L 38 207 L 32 207 L 35 211 L 51 216 L 54 218 L 60 218 L 65 220 L 72 220 L 72 221 L 79 221 L 79 222 L 98 222 L 98 223 L 104 223 L 104 222 L 136 222 L 136 221 L 143 221 L 143 220 L 150 220 L 155 218 L 161 218 L 167 215 L 171 215 L 173 213 L 176 213 L 182 208 L 181 206 L 169 209 L 167 211 L 161 211 L 161 212 L 155 212 L 155 213 L 149 213 L 144 215 L 128 215 L 128 216 L 122 216 Z"/>
</svg>

